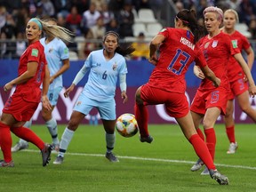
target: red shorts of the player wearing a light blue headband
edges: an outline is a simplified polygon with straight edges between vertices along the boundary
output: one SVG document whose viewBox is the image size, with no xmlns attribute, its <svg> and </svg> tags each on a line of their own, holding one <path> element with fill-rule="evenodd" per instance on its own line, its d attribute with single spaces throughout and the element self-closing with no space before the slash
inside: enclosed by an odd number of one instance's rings
<svg viewBox="0 0 256 192">
<path fill-rule="evenodd" d="M 3 113 L 11 114 L 17 121 L 29 121 L 35 113 L 38 104 L 38 102 L 23 100 L 21 95 L 14 92 L 6 101 Z"/>
</svg>

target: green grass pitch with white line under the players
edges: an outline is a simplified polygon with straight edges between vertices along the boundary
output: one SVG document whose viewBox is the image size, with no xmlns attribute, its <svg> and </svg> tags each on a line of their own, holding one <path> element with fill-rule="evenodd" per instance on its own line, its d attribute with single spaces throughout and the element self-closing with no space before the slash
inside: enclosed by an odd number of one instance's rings
<svg viewBox="0 0 256 192">
<path fill-rule="evenodd" d="M 60 137 L 64 128 L 59 125 Z M 44 125 L 34 125 L 33 130 L 51 142 Z M 239 148 L 235 155 L 226 154 L 228 139 L 223 124 L 215 130 L 215 164 L 228 176 L 228 186 L 220 186 L 210 176 L 201 176 L 203 170 L 190 171 L 197 157 L 178 125 L 149 125 L 154 137 L 151 144 L 140 143 L 138 134 L 123 138 L 116 133 L 114 152 L 120 160 L 116 164 L 104 156 L 106 143 L 101 125 L 81 125 L 68 147 L 64 164 L 52 164 L 56 156 L 52 154 L 51 163 L 43 167 L 41 154 L 32 144 L 27 151 L 14 153 L 15 167 L 0 170 L 0 191 L 256 191 L 255 125 L 236 125 Z M 17 140 L 13 136 L 13 144 Z"/>
</svg>

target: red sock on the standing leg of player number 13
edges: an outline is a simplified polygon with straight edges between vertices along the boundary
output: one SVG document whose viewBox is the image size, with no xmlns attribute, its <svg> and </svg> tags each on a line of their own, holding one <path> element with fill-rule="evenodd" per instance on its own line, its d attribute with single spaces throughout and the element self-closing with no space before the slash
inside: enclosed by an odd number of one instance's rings
<svg viewBox="0 0 256 192">
<path fill-rule="evenodd" d="M 213 164 L 212 156 L 210 155 L 204 140 L 202 140 L 198 134 L 194 134 L 189 138 L 189 142 L 193 145 L 196 155 L 199 156 L 207 168 L 215 170 L 216 167 Z"/>
</svg>

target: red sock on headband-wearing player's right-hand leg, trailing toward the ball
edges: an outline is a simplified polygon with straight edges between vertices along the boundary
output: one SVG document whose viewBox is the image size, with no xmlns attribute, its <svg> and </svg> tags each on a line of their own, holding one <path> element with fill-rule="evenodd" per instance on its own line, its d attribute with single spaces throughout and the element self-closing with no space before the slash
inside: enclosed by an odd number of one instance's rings
<svg viewBox="0 0 256 192">
<path fill-rule="evenodd" d="M 44 148 L 44 141 L 41 140 L 32 130 L 26 127 L 12 127 L 11 131 L 21 139 L 33 143 L 37 148 L 40 148 L 40 150 Z"/>
</svg>

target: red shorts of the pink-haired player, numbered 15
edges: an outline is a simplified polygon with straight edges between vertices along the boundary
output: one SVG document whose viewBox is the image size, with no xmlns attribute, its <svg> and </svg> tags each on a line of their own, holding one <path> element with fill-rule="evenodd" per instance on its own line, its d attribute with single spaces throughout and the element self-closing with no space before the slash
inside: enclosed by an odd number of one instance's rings
<svg viewBox="0 0 256 192">
<path fill-rule="evenodd" d="M 207 108 L 217 107 L 220 108 L 220 114 L 225 115 L 228 102 L 228 92 L 229 89 L 227 90 L 223 87 L 218 87 L 206 92 L 197 90 L 190 110 L 204 115 Z"/>
</svg>

